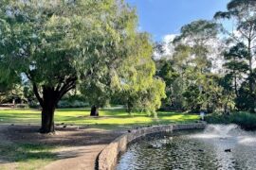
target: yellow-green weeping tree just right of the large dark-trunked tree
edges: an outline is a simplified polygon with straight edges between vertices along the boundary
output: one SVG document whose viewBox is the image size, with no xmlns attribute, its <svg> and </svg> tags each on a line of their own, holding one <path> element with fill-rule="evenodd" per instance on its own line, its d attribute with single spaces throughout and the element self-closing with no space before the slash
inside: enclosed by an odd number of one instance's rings
<svg viewBox="0 0 256 170">
<path fill-rule="evenodd" d="M 123 6 L 125 15 L 115 17 L 118 30 L 125 35 L 121 41 L 109 51 L 111 59 L 105 60 L 105 67 L 99 67 L 99 60 L 94 63 L 90 80 L 82 83 L 81 91 L 92 105 L 91 116 L 99 116 L 99 108 L 111 98 L 119 98 L 119 102 L 127 106 L 128 112 L 133 109 L 146 111 L 149 114 L 161 106 L 165 97 L 165 83 L 155 77 L 153 43 L 149 34 L 137 32 L 136 11 Z"/>
</svg>

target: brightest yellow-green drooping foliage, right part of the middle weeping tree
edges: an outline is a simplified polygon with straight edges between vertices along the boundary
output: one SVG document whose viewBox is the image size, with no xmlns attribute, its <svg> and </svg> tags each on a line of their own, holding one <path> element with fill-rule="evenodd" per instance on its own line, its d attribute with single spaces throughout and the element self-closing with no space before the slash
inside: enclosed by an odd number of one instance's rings
<svg viewBox="0 0 256 170">
<path fill-rule="evenodd" d="M 137 34 L 130 58 L 121 62 L 119 77 L 113 88 L 127 111 L 141 110 L 149 114 L 160 108 L 161 99 L 165 98 L 165 83 L 155 77 L 153 44 L 146 33 Z"/>
</svg>

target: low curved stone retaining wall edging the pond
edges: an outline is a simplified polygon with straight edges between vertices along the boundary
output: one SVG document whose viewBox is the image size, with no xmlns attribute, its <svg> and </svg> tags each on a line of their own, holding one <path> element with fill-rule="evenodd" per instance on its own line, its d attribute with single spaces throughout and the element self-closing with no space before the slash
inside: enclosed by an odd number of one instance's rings
<svg viewBox="0 0 256 170">
<path fill-rule="evenodd" d="M 115 169 L 119 154 L 125 152 L 127 145 L 139 137 L 158 133 L 158 132 L 172 132 L 173 130 L 182 129 L 203 129 L 206 127 L 205 123 L 197 124 L 184 124 L 184 125 L 168 125 L 168 126 L 155 126 L 155 127 L 143 127 L 131 130 L 119 138 L 114 140 L 111 144 L 108 144 L 100 153 L 98 160 L 99 170 L 112 170 Z"/>
</svg>

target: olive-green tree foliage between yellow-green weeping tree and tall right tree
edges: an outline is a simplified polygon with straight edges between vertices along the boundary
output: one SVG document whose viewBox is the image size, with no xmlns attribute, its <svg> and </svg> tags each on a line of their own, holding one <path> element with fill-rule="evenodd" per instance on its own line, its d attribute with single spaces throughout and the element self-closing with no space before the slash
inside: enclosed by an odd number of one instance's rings
<svg viewBox="0 0 256 170">
<path fill-rule="evenodd" d="M 211 74 L 209 43 L 217 40 L 220 26 L 205 20 L 181 28 L 174 39 L 173 59 L 158 64 L 158 74 L 167 82 L 168 102 L 174 109 L 213 111 L 221 108 L 223 88 Z M 172 63 L 172 64 L 171 64 Z"/>
</svg>

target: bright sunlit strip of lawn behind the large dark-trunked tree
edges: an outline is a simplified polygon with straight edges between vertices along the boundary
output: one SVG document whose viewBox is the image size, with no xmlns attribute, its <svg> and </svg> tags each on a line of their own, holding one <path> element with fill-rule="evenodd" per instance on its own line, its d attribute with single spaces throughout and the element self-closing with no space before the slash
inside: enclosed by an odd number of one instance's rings
<svg viewBox="0 0 256 170">
<path fill-rule="evenodd" d="M 196 114 L 158 111 L 158 118 L 145 113 L 134 112 L 129 115 L 123 109 L 101 109 L 100 117 L 90 117 L 89 109 L 60 109 L 55 112 L 55 124 L 88 126 L 103 129 L 129 128 L 147 125 L 186 124 L 199 119 Z M 40 110 L 0 110 L 0 124 L 41 123 Z"/>
</svg>

